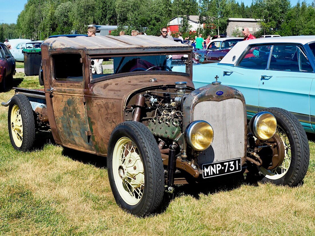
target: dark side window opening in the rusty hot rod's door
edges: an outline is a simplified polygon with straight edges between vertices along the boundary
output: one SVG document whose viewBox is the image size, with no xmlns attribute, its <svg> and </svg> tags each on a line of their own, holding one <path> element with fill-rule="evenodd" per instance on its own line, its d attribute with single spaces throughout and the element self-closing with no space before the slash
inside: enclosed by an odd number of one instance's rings
<svg viewBox="0 0 315 236">
<path fill-rule="evenodd" d="M 52 55 L 54 78 L 58 81 L 83 81 L 81 54 L 62 53 Z"/>
</svg>

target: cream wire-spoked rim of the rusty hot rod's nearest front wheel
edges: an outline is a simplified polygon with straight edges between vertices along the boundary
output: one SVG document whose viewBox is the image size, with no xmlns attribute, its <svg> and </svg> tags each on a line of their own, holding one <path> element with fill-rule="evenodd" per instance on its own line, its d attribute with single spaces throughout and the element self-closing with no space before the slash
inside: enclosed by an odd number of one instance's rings
<svg viewBox="0 0 315 236">
<path fill-rule="evenodd" d="M 140 152 L 130 138 L 123 137 L 117 141 L 112 169 L 121 198 L 129 205 L 139 203 L 144 191 L 144 167 Z"/>
</svg>

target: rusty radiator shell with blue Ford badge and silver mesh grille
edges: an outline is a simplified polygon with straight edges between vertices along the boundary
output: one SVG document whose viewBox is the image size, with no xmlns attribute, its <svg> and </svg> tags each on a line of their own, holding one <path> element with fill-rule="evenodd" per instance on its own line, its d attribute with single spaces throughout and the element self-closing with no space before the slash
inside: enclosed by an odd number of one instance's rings
<svg viewBox="0 0 315 236">
<path fill-rule="evenodd" d="M 195 120 L 207 121 L 214 129 L 211 151 L 201 152 L 200 157 L 208 156 L 205 159 L 208 163 L 234 158 L 242 158 L 242 164 L 245 163 L 247 116 L 245 99 L 240 91 L 221 84 L 209 84 L 190 93 L 183 111 L 184 130 Z M 212 155 L 210 159 L 209 155 Z"/>
</svg>

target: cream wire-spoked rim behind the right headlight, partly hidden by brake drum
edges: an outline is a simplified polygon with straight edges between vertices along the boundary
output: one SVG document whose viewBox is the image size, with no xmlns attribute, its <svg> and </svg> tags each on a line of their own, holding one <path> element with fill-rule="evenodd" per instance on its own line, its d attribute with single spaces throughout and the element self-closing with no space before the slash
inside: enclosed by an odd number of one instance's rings
<svg viewBox="0 0 315 236">
<path fill-rule="evenodd" d="M 291 163 L 291 145 L 289 142 L 288 136 L 285 134 L 284 130 L 281 127 L 277 127 L 276 133 L 280 136 L 282 139 L 283 145 L 284 145 L 284 160 L 280 166 L 273 170 L 267 170 L 263 167 L 261 167 L 261 172 L 268 178 L 268 179 L 280 179 L 283 177 L 289 170 L 290 163 Z"/>
</svg>

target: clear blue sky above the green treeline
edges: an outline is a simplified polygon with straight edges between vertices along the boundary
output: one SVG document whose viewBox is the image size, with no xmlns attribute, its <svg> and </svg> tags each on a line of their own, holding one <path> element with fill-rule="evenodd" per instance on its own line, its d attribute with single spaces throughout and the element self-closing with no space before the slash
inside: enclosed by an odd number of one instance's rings
<svg viewBox="0 0 315 236">
<path fill-rule="evenodd" d="M 238 0 L 239 3 L 243 3 L 249 5 L 252 3 L 252 0 Z M 296 5 L 298 0 L 291 0 L 291 6 Z M 300 0 L 300 2 L 302 2 Z M 311 4 L 313 0 L 306 0 L 307 4 Z M 1 23 L 16 23 L 18 15 L 24 9 L 25 3 L 27 0 L 0 0 L 1 8 L 0 8 L 0 24 Z"/>
</svg>

